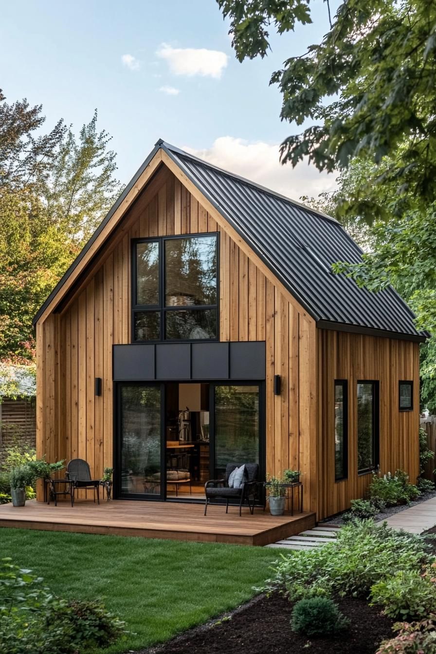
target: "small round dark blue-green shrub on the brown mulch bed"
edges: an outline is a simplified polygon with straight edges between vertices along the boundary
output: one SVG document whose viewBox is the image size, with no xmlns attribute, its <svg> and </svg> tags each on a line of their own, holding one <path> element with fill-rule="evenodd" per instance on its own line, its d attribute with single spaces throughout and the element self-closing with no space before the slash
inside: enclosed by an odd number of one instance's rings
<svg viewBox="0 0 436 654">
<path fill-rule="evenodd" d="M 299 600 L 293 607 L 291 627 L 299 634 L 326 636 L 343 631 L 349 624 L 337 604 L 328 597 Z"/>
</svg>

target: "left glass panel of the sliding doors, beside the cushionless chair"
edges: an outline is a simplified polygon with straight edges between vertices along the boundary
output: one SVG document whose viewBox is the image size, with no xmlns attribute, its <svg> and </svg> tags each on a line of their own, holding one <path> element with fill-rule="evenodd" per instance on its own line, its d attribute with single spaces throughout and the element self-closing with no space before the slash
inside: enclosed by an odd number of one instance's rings
<svg viewBox="0 0 436 654">
<path fill-rule="evenodd" d="M 131 489 L 132 476 L 144 477 L 160 470 L 160 390 L 156 387 L 123 386 L 122 405 L 122 490 Z"/>
</svg>

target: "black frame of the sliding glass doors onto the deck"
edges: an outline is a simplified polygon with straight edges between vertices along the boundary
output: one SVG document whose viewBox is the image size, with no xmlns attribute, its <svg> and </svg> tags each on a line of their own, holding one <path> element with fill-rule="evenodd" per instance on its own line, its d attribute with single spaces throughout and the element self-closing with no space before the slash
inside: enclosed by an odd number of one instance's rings
<svg viewBox="0 0 436 654">
<path fill-rule="evenodd" d="M 171 380 L 168 382 L 154 381 L 118 381 L 114 382 L 114 498 L 122 500 L 147 500 L 154 502 L 203 502 L 199 498 L 167 498 L 166 483 L 166 424 L 165 424 L 165 407 L 166 407 L 166 384 L 189 384 L 203 383 L 209 384 L 209 474 L 210 479 L 214 476 L 215 470 L 215 394 L 217 386 L 257 386 L 259 388 L 259 472 L 260 479 L 265 478 L 266 473 L 266 401 L 265 401 L 265 381 L 259 379 L 204 379 L 204 380 Z M 121 488 L 121 449 L 122 449 L 122 431 L 121 431 L 121 388 L 123 386 L 145 386 L 159 387 L 161 392 L 160 408 L 160 426 L 161 426 L 161 492 L 159 494 L 151 493 L 123 493 Z"/>
</svg>

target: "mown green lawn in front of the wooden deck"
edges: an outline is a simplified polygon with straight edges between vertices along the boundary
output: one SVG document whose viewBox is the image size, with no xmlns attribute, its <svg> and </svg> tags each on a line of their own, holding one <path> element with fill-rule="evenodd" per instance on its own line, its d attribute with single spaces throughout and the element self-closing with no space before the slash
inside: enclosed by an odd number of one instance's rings
<svg viewBox="0 0 436 654">
<path fill-rule="evenodd" d="M 102 598 L 126 621 L 120 653 L 171 638 L 248 600 L 277 559 L 269 549 L 0 528 L 0 556 L 65 598 Z"/>
</svg>

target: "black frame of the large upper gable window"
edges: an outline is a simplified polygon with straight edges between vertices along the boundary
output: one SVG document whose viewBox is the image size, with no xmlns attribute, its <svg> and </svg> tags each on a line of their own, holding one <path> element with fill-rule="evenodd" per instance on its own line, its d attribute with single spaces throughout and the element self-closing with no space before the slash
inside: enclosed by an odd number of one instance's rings
<svg viewBox="0 0 436 654">
<path fill-rule="evenodd" d="M 176 239 L 190 239 L 198 237 L 216 238 L 216 303 L 208 305 L 190 305 L 189 307 L 165 306 L 165 242 Z M 138 243 L 159 243 L 159 304 L 137 304 L 137 245 Z M 176 234 L 171 236 L 150 236 L 148 238 L 131 239 L 131 343 L 214 343 L 220 339 L 220 234 L 219 232 L 199 232 L 195 234 Z M 166 338 L 165 316 L 167 311 L 201 311 L 214 310 L 216 312 L 216 337 L 182 339 Z M 139 340 L 135 339 L 135 315 L 137 313 L 159 313 L 159 338 Z"/>
</svg>

